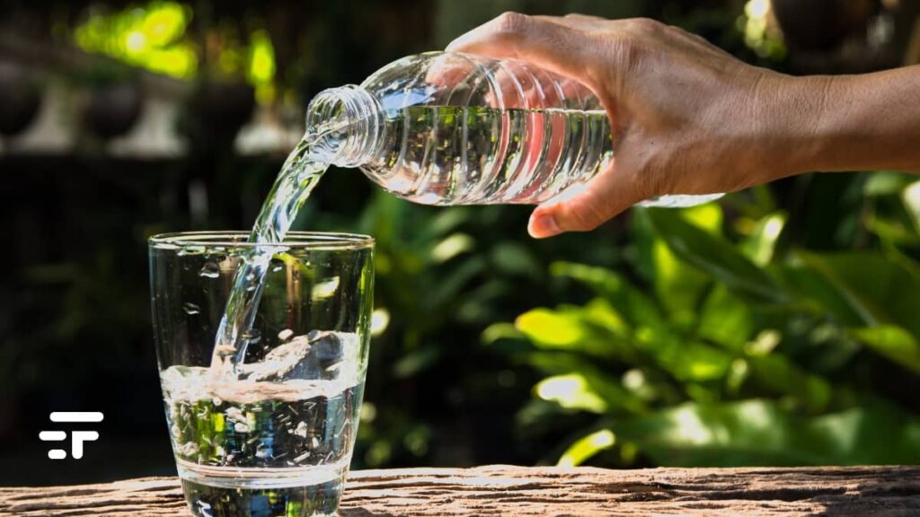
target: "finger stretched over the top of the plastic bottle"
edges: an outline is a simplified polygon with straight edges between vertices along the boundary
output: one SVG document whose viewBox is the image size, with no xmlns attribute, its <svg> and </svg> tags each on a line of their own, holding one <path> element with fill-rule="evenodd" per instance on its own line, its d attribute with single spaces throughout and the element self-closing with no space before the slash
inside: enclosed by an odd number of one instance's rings
<svg viewBox="0 0 920 517">
<path fill-rule="evenodd" d="M 582 82 L 596 61 L 596 44 L 583 31 L 518 13 L 505 13 L 470 30 L 452 41 L 447 51 L 519 58 Z"/>
</svg>

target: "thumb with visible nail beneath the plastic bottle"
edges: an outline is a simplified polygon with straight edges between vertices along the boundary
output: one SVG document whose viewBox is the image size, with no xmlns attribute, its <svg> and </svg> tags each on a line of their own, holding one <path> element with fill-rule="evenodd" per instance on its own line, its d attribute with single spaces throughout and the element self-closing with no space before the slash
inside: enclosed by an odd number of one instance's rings
<svg viewBox="0 0 920 517">
<path fill-rule="evenodd" d="M 580 189 L 565 192 L 538 206 L 531 214 L 527 232 L 534 238 L 565 232 L 587 232 L 642 201 L 635 186 L 613 165 Z"/>
</svg>

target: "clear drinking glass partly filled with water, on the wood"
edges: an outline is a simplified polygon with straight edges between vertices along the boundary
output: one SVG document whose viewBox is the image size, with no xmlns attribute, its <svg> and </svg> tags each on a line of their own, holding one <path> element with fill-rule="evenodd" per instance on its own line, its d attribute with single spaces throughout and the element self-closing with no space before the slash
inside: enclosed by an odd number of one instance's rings
<svg viewBox="0 0 920 517">
<path fill-rule="evenodd" d="M 244 232 L 151 237 L 156 354 L 178 475 L 193 515 L 331 515 L 358 429 L 374 291 L 368 236 Z M 234 276 L 270 250 L 238 378 L 214 375 Z"/>
</svg>

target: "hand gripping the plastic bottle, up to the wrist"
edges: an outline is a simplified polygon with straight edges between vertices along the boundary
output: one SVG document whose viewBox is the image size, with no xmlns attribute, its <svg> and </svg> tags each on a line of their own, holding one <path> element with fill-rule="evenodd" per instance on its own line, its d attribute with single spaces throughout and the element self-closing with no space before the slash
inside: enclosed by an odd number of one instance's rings
<svg viewBox="0 0 920 517">
<path fill-rule="evenodd" d="M 505 13 L 447 50 L 535 63 L 588 86 L 607 109 L 611 167 L 568 199 L 537 207 L 532 236 L 592 230 L 653 196 L 741 190 L 799 172 L 784 163 L 770 109 L 796 79 L 684 30 L 650 19 Z"/>
</svg>

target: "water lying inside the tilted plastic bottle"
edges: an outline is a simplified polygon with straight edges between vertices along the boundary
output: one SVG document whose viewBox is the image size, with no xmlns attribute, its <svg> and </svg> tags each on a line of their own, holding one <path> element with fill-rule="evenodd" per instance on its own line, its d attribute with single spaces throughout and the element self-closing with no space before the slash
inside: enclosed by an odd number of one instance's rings
<svg viewBox="0 0 920 517">
<path fill-rule="evenodd" d="M 365 168 L 385 190 L 425 204 L 543 202 L 613 156 L 603 110 L 417 106 L 388 119 L 401 140 Z"/>
</svg>

